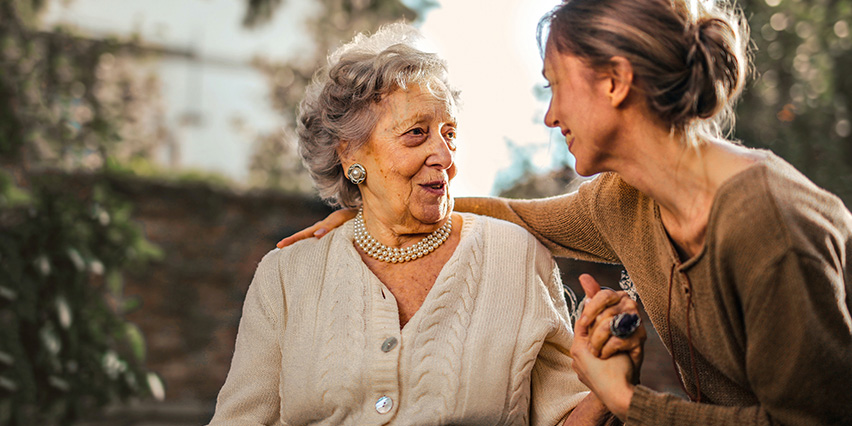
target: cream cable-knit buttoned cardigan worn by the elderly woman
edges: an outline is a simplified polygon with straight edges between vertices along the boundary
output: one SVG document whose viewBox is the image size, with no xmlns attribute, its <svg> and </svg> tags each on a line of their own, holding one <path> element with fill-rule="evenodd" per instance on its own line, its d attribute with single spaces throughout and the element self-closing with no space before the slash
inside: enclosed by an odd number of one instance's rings
<svg viewBox="0 0 852 426">
<path fill-rule="evenodd" d="M 520 227 L 463 218 L 458 247 L 402 330 L 351 221 L 267 254 L 210 425 L 559 423 L 587 390 L 571 369 L 558 270 Z"/>
</svg>

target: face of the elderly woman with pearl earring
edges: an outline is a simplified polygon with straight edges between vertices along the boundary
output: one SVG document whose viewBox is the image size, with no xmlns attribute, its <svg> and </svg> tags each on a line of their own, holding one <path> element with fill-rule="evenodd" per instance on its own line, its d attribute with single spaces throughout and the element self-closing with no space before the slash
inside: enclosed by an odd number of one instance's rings
<svg viewBox="0 0 852 426">
<path fill-rule="evenodd" d="M 354 155 L 367 169 L 360 185 L 365 211 L 410 230 L 442 221 L 452 210 L 449 183 L 456 175 L 454 108 L 420 85 L 375 107 L 379 121 Z"/>
</svg>

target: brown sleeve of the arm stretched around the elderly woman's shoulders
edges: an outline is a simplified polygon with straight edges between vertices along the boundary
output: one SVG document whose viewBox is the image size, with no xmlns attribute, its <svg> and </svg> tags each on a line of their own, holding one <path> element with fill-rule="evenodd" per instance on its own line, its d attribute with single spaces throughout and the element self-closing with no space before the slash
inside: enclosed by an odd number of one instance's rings
<svg viewBox="0 0 852 426">
<path fill-rule="evenodd" d="M 614 179 L 604 174 L 575 192 L 551 198 L 459 198 L 455 209 L 522 226 L 556 256 L 619 263 L 592 215 L 601 187 L 612 185 Z"/>
</svg>

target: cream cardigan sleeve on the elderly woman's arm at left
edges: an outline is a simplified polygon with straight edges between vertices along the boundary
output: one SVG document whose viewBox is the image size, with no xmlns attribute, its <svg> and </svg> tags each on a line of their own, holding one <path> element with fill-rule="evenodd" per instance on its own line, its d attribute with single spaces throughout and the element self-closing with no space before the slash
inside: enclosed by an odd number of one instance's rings
<svg viewBox="0 0 852 426">
<path fill-rule="evenodd" d="M 261 261 L 246 293 L 231 370 L 219 392 L 209 426 L 281 424 L 281 325 L 271 308 L 275 304 L 268 293 L 272 292 L 266 291 L 280 288 L 274 253 Z"/>
</svg>

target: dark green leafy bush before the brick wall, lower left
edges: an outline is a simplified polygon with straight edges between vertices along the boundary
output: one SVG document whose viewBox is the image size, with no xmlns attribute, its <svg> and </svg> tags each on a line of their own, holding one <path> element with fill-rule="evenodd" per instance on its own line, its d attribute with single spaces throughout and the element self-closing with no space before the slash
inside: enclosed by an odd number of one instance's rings
<svg viewBox="0 0 852 426">
<path fill-rule="evenodd" d="M 2 175 L 0 200 L 21 190 Z M 0 212 L 0 424 L 70 424 L 149 394 L 144 339 L 123 319 L 122 270 L 157 255 L 107 184 L 34 179 Z"/>
</svg>

